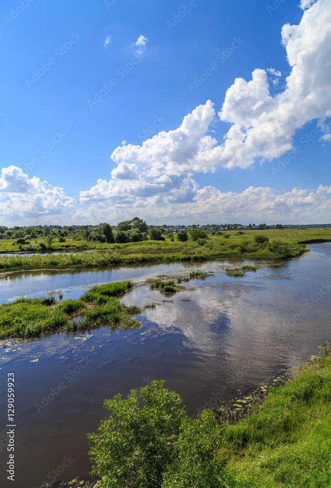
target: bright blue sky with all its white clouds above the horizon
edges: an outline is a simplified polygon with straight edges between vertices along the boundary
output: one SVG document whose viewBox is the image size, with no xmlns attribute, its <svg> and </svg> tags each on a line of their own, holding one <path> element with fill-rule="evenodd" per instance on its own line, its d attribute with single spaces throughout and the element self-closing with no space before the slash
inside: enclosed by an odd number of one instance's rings
<svg viewBox="0 0 331 488">
<path fill-rule="evenodd" d="M 2 224 L 329 223 L 330 18 L 327 0 L 2 3 Z"/>
</svg>

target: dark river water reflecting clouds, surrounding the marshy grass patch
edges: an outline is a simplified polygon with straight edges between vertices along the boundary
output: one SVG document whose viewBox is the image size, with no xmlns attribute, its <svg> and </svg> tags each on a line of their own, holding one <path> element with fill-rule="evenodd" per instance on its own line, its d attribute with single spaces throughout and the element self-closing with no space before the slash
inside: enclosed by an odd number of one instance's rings
<svg viewBox="0 0 331 488">
<path fill-rule="evenodd" d="M 15 373 L 17 468 L 15 483 L 5 481 L 1 487 L 32 488 L 88 473 L 86 433 L 95 431 L 107 413 L 103 400 L 118 392 L 125 396 L 131 388 L 164 379 L 195 415 L 238 389 L 254 388 L 309 359 L 324 340 L 331 340 L 331 243 L 311 244 L 310 249 L 312 253 L 284 266 L 244 278 L 226 276 L 225 261 L 197 264 L 213 270 L 214 276 L 184 283 L 187 289 L 170 298 L 147 285 L 137 287 L 125 296 L 127 305 L 159 304 L 140 317 L 139 330 L 111 332 L 103 327 L 76 337 L 7 342 L 0 349 L 0 381 L 4 392 L 7 373 Z M 58 288 L 68 296 L 79 295 L 82 289 L 70 288 L 128 278 L 139 282 L 189 268 L 160 264 L 21 274 L 1 280 L 1 297 L 6 301 Z M 0 404 L 0 479 L 6 480 L 3 394 Z"/>
</svg>

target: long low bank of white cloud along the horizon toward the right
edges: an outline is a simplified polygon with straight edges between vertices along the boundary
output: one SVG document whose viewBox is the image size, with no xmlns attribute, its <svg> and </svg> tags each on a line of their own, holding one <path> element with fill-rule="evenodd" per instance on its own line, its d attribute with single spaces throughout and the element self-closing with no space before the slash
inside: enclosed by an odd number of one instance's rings
<svg viewBox="0 0 331 488">
<path fill-rule="evenodd" d="M 331 186 L 327 185 L 319 185 L 317 189 L 293 188 L 285 193 L 270 187 L 250 186 L 242 193 L 235 193 L 221 192 L 212 186 L 199 188 L 188 177 L 168 194 L 137 196 L 130 201 L 124 197 L 123 201 L 109 205 L 112 190 L 107 182 L 98 183 L 93 190 L 97 196 L 95 201 L 87 211 L 77 214 L 82 221 L 92 222 L 93 216 L 98 215 L 99 220 L 108 219 L 116 224 L 139 213 L 154 224 L 234 221 L 309 224 L 329 222 L 331 214 Z"/>
</svg>

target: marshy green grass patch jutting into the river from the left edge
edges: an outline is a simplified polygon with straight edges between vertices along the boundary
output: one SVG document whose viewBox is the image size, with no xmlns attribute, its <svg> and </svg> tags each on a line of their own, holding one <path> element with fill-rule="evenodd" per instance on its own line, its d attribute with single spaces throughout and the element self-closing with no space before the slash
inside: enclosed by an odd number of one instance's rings
<svg viewBox="0 0 331 488">
<path fill-rule="evenodd" d="M 85 331 L 100 325 L 112 328 L 139 327 L 131 314 L 136 307 L 125 307 L 116 297 L 132 288 L 130 281 L 95 285 L 79 300 L 56 302 L 46 298 L 20 298 L 0 305 L 0 339 L 41 337 L 56 331 Z"/>
</svg>

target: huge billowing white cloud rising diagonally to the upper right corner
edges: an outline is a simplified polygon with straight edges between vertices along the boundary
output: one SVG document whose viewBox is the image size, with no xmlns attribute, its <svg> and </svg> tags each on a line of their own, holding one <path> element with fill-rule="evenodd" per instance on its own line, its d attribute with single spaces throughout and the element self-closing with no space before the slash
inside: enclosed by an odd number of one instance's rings
<svg viewBox="0 0 331 488">
<path fill-rule="evenodd" d="M 178 129 L 160 132 L 141 146 L 118 147 L 113 161 L 136 164 L 148 178 L 214 171 L 220 166 L 247 168 L 257 159 L 271 161 L 292 149 L 297 129 L 331 116 L 329 0 L 318 0 L 305 10 L 299 25 L 284 25 L 282 43 L 291 67 L 284 91 L 270 94 L 267 72 L 274 77 L 273 84 L 281 76 L 275 68 L 255 69 L 250 81 L 237 78 L 218 114 L 231 124 L 223 144 L 206 135 L 215 116 L 208 101 L 187 115 Z"/>
</svg>

